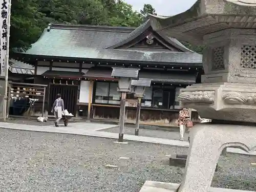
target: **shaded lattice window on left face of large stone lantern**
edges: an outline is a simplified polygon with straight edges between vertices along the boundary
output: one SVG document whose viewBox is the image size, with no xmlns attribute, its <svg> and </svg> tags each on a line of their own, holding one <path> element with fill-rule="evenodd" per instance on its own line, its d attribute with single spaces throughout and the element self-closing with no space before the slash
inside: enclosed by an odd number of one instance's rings
<svg viewBox="0 0 256 192">
<path fill-rule="evenodd" d="M 213 50 L 212 55 L 212 70 L 223 70 L 225 69 L 224 66 L 224 48 L 217 47 Z"/>
</svg>

